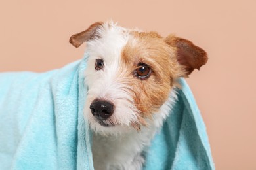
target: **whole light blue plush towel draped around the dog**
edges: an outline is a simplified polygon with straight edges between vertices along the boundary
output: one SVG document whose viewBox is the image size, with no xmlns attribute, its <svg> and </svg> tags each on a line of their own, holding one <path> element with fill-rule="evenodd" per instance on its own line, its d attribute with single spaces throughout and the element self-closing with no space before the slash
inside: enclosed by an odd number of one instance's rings
<svg viewBox="0 0 256 170">
<path fill-rule="evenodd" d="M 0 169 L 93 169 L 83 119 L 86 58 L 47 73 L 0 74 Z M 144 169 L 214 169 L 200 112 L 181 84 Z"/>
</svg>

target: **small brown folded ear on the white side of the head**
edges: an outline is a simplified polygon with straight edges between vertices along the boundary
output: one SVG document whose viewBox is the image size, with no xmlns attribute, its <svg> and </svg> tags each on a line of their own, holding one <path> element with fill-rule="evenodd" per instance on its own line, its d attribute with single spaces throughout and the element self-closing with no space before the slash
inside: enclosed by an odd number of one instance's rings
<svg viewBox="0 0 256 170">
<path fill-rule="evenodd" d="M 91 39 L 94 39 L 95 37 L 98 37 L 98 35 L 96 35 L 96 30 L 99 27 L 102 27 L 102 25 L 103 25 L 103 22 L 95 22 L 85 31 L 72 35 L 70 37 L 70 44 L 72 44 L 77 48 L 81 46 L 83 42 L 89 41 Z"/>
</svg>

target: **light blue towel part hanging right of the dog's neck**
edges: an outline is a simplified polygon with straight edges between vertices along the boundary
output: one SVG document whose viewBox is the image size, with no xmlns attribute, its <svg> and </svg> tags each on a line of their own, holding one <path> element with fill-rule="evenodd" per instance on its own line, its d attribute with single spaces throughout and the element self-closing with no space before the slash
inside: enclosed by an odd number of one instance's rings
<svg viewBox="0 0 256 170">
<path fill-rule="evenodd" d="M 144 169 L 215 169 L 200 111 L 185 80 L 178 101 L 154 137 Z"/>
</svg>

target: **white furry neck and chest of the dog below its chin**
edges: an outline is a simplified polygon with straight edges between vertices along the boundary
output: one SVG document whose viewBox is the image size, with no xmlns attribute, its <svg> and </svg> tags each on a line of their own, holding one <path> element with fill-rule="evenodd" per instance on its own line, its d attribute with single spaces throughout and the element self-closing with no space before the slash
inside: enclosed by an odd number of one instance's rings
<svg viewBox="0 0 256 170">
<path fill-rule="evenodd" d="M 99 169 L 142 169 L 144 157 L 142 152 L 148 146 L 164 120 L 171 112 L 176 94 L 172 91 L 169 99 L 156 112 L 152 122 L 146 127 L 141 127 L 140 131 L 132 129 L 128 133 L 118 135 L 93 134 L 93 161 L 96 170 Z"/>
</svg>

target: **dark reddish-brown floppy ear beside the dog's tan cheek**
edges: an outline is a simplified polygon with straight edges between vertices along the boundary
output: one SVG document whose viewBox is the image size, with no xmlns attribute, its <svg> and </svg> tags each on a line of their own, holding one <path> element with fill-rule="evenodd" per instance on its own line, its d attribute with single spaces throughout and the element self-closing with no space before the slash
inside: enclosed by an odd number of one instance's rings
<svg viewBox="0 0 256 170">
<path fill-rule="evenodd" d="M 199 70 L 208 60 L 206 52 L 191 41 L 169 35 L 165 42 L 177 48 L 177 61 L 184 66 L 186 75 L 190 75 L 194 69 Z"/>
</svg>

